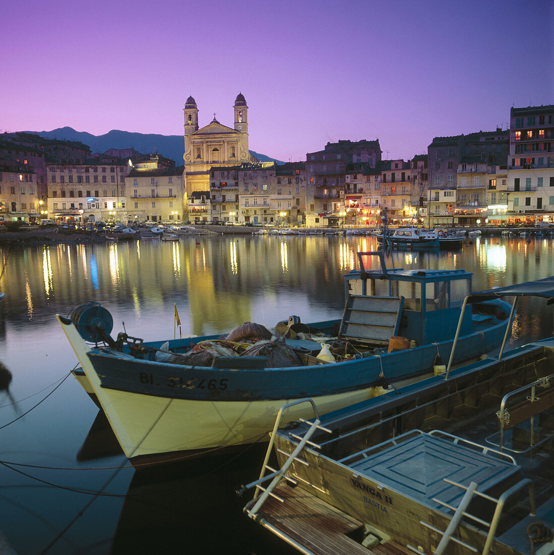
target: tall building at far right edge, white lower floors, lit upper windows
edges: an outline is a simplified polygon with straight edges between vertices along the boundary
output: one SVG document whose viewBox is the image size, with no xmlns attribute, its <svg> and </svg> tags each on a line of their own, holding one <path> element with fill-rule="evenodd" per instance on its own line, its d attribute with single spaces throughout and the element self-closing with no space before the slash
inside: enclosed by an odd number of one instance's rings
<svg viewBox="0 0 554 555">
<path fill-rule="evenodd" d="M 508 222 L 533 225 L 554 216 L 554 105 L 510 110 Z"/>
</svg>

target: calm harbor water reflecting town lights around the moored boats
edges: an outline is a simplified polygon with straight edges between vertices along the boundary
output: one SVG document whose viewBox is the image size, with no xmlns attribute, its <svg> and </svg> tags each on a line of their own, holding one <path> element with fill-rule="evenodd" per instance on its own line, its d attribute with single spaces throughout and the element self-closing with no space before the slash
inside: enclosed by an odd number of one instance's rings
<svg viewBox="0 0 554 555">
<path fill-rule="evenodd" d="M 343 276 L 371 250 L 371 236 L 295 235 L 2 246 L 0 531 L 14 551 L 292 553 L 243 514 L 249 497 L 235 495 L 258 477 L 263 443 L 133 468 L 70 375 L 77 359 L 55 315 L 97 301 L 113 316 L 113 336 L 146 341 L 223 334 L 246 321 L 274 327 L 291 315 L 340 318 Z M 553 250 L 549 236 L 476 236 L 455 251 L 387 253 L 386 263 L 465 269 L 483 290 L 554 275 Z M 552 327 L 545 300 L 522 299 L 507 348 Z"/>
</svg>

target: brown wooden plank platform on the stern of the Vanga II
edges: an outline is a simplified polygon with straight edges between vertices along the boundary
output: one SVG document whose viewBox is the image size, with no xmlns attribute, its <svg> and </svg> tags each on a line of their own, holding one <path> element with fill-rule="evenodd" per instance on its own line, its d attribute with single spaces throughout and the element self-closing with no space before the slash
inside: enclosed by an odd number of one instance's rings
<svg viewBox="0 0 554 555">
<path fill-rule="evenodd" d="M 264 519 L 315 555 L 413 555 L 395 542 L 373 549 L 361 546 L 346 534 L 359 530 L 363 523 L 299 487 L 282 483 L 274 493 L 284 502 L 269 497 L 256 521 Z"/>
</svg>

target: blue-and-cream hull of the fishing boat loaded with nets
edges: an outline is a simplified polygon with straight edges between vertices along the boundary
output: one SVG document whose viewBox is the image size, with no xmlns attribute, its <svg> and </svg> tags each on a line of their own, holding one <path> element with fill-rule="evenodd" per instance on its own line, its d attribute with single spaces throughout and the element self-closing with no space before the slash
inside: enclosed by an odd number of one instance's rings
<svg viewBox="0 0 554 555">
<path fill-rule="evenodd" d="M 437 354 L 448 360 L 452 346 L 449 340 L 317 366 L 220 369 L 90 349 L 72 321 L 61 316 L 58 320 L 82 365 L 79 382 L 89 395 L 96 395 L 132 461 L 163 461 L 182 452 L 266 441 L 275 412 L 284 403 L 311 397 L 324 413 L 366 400 L 386 391 L 382 385 L 429 376 Z M 502 322 L 461 337 L 454 362 L 499 346 L 505 329 Z M 287 421 L 311 417 L 310 412 L 291 412 Z"/>
</svg>

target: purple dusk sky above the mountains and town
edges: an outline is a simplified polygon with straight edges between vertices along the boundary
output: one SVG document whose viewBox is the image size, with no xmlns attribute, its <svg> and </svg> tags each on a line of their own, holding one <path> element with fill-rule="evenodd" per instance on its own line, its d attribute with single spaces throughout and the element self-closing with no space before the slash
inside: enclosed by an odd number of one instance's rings
<svg viewBox="0 0 554 555">
<path fill-rule="evenodd" d="M 242 92 L 251 150 L 379 138 L 408 159 L 554 104 L 553 0 L 31 0 L 2 19 L 2 132 L 180 135 L 189 95 L 201 126 L 233 127 Z"/>
</svg>

